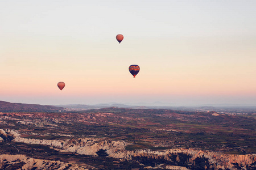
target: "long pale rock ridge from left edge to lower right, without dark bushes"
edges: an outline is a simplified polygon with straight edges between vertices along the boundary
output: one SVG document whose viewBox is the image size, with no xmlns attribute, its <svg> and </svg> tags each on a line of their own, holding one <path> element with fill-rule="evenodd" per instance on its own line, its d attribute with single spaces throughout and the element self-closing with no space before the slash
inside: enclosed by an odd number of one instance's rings
<svg viewBox="0 0 256 170">
<path fill-rule="evenodd" d="M 5 131 L 1 130 L 2 134 Z M 14 134 L 11 134 L 14 133 Z M 169 162 L 179 162 L 179 155 L 187 155 L 188 164 L 195 164 L 196 159 L 208 159 L 210 168 L 214 169 L 236 169 L 234 164 L 240 165 L 241 168 L 246 169 L 246 166 L 255 167 L 256 169 L 256 155 L 230 155 L 222 152 L 201 151 L 196 149 L 175 148 L 164 151 L 152 151 L 148 149 L 128 151 L 125 149 L 126 143 L 123 141 L 110 141 L 108 139 L 99 138 L 78 138 L 66 140 L 39 140 L 21 138 L 15 131 L 8 131 L 8 133 L 15 137 L 13 142 L 23 142 L 29 144 L 39 144 L 51 146 L 63 152 L 75 152 L 83 155 L 97 156 L 97 151 L 106 150 L 109 157 L 117 158 L 120 160 L 133 160 L 136 157 L 146 157 L 148 159 L 165 159 Z M 172 160 L 176 156 L 175 160 Z M 185 167 L 169 167 L 180 168 Z"/>
</svg>

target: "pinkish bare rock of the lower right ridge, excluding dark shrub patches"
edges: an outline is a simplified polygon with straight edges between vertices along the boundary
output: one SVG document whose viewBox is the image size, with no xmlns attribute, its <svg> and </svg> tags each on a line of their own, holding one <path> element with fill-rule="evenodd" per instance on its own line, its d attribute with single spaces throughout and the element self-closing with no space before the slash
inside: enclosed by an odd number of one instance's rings
<svg viewBox="0 0 256 170">
<path fill-rule="evenodd" d="M 185 154 L 192 156 L 190 163 L 195 163 L 196 158 L 207 158 L 210 164 L 210 167 L 217 169 L 234 169 L 233 164 L 239 164 L 242 168 L 246 169 L 247 165 L 255 164 L 256 156 L 253 154 L 248 155 L 229 155 L 222 152 L 209 152 L 201 151 L 195 149 L 184 149 L 177 148 L 172 150 L 165 151 L 151 151 L 151 150 L 135 150 L 135 151 L 126 151 L 125 157 L 119 155 L 118 153 L 113 154 L 113 158 L 121 158 L 131 160 L 132 157 L 147 157 L 151 159 L 166 159 L 170 162 L 171 155 Z M 255 166 L 255 165 L 254 165 Z M 255 167 L 256 169 L 256 167 Z"/>
</svg>

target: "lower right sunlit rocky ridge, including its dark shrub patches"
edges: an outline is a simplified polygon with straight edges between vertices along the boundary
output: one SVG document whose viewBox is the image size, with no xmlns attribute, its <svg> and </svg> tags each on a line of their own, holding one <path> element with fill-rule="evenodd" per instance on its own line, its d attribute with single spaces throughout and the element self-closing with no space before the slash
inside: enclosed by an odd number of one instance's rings
<svg viewBox="0 0 256 170">
<path fill-rule="evenodd" d="M 118 153 L 112 155 L 115 158 L 121 158 L 123 155 Z M 136 150 L 126 151 L 122 159 L 164 159 L 170 163 L 176 162 L 177 165 L 185 164 L 195 169 L 197 164 L 205 162 L 205 169 L 236 169 L 235 164 L 247 169 L 247 167 L 256 168 L 256 156 L 249 155 L 228 155 L 221 152 L 200 151 L 194 149 L 177 148 L 165 151 Z"/>
</svg>

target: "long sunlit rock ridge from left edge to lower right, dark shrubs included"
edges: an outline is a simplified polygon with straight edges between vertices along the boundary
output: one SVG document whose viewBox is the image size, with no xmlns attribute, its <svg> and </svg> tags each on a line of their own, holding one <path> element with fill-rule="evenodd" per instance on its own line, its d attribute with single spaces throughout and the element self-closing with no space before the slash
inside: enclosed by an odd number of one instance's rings
<svg viewBox="0 0 256 170">
<path fill-rule="evenodd" d="M 196 149 L 175 148 L 164 151 L 149 149 L 129 151 L 124 141 L 112 141 L 100 138 L 77 138 L 66 140 L 40 140 L 19 137 L 16 131 L 1 130 L 2 136 L 15 137 L 13 142 L 47 145 L 61 152 L 74 152 L 80 155 L 98 156 L 99 151 L 105 151 L 107 156 L 121 161 L 136 161 L 141 164 L 148 162 L 165 162 L 160 164 L 165 169 L 256 169 L 256 155 L 228 155 L 222 152 L 201 151 Z M 150 164 L 145 167 L 152 167 Z M 160 168 L 160 167 L 159 167 Z"/>
</svg>

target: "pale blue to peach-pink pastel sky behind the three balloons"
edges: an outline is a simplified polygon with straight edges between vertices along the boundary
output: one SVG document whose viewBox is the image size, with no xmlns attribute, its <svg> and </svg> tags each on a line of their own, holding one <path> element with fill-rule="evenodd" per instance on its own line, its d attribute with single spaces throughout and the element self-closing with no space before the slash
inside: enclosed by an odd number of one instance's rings
<svg viewBox="0 0 256 170">
<path fill-rule="evenodd" d="M 0 1 L 0 100 L 255 106 L 255 6 L 254 0 Z M 135 79 L 133 64 L 141 67 Z"/>
</svg>

